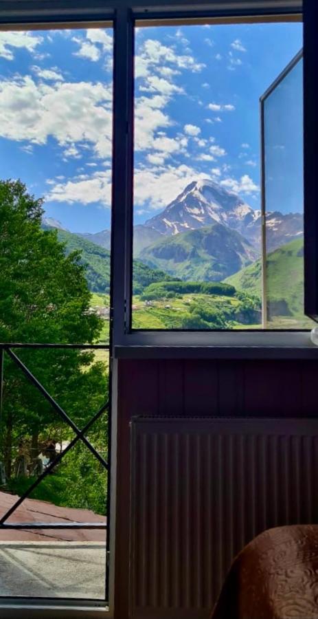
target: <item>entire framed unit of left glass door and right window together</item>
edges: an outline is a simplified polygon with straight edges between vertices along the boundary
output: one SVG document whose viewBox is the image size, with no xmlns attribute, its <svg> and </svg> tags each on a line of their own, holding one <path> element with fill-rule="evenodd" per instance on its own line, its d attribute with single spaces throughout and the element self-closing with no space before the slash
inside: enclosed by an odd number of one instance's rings
<svg viewBox="0 0 318 619">
<path fill-rule="evenodd" d="M 19 553 L 19 565 L 14 565 L 10 548 L 1 545 L 14 577 L 10 586 L 3 585 L 0 605 L 7 598 L 18 598 L 22 605 L 24 596 L 34 605 L 48 598 L 49 605 L 56 596 L 56 607 L 77 607 L 78 599 L 81 605 L 105 607 L 109 345 L 111 356 L 148 354 L 148 345 L 163 345 L 165 356 L 178 345 L 190 354 L 192 346 L 201 347 L 200 354 L 209 346 L 216 355 L 223 347 L 232 357 L 245 354 L 234 351 L 236 346 L 251 355 L 259 347 L 263 355 L 264 347 L 282 345 L 282 356 L 293 356 L 294 345 L 303 349 L 308 343 L 308 333 L 299 329 L 311 326 L 302 309 L 304 285 L 306 314 L 317 318 L 317 105 L 310 91 L 317 72 L 315 46 L 310 47 L 317 9 L 310 8 L 313 15 L 307 9 L 305 16 L 303 209 L 300 0 L 286 0 L 279 10 L 272 0 L 264 0 L 262 9 L 247 0 L 235 10 L 236 3 L 215 8 L 214 0 L 200 10 L 185 9 L 181 0 L 179 9 L 178 0 L 173 8 L 159 1 L 156 12 L 116 0 L 106 14 L 98 2 L 77 6 L 69 1 L 62 14 L 54 2 L 45 9 L 28 10 L 27 4 L 21 10 L 10 8 L 10 2 L 0 8 L 1 25 L 8 24 L 0 33 L 5 206 L 0 228 L 0 492 L 6 495 L 0 536 Z M 107 20 L 114 17 L 113 34 Z M 30 23 L 34 28 L 25 25 Z M 291 97 L 293 92 L 297 96 Z M 297 127 L 294 123 L 288 131 L 288 123 L 280 122 L 277 144 L 284 149 L 274 149 L 282 109 L 285 121 L 295 114 Z M 303 284 L 299 277 L 295 294 L 285 287 L 278 296 L 271 263 L 279 254 L 285 259 L 286 252 L 272 244 L 277 199 L 271 183 L 277 192 L 290 192 L 290 163 L 283 150 L 295 154 L 299 206 L 280 206 L 281 221 L 296 222 L 280 243 L 299 242 L 304 210 L 306 278 Z M 276 173 L 277 165 L 282 174 L 274 176 L 271 168 Z M 238 221 L 236 228 L 226 221 L 199 221 L 202 213 L 195 204 L 190 204 L 189 217 L 200 225 L 193 229 L 185 217 L 177 221 L 162 215 L 174 199 L 179 196 L 182 203 L 180 196 L 194 190 L 205 206 L 216 191 L 235 199 L 236 214 L 242 206 L 242 216 L 251 216 L 247 237 Z M 36 202 L 41 197 L 43 214 Z M 209 226 L 216 227 L 206 234 Z M 175 234 L 166 233 L 171 230 Z M 211 259 L 209 232 L 218 237 L 220 250 Z M 197 245 L 184 241 L 186 235 Z M 225 248 L 232 252 L 227 260 Z M 209 269 L 214 279 L 206 279 Z M 30 501 L 36 501 L 36 509 Z M 43 501 L 50 503 L 46 511 Z M 81 544 L 91 563 L 79 589 L 74 583 Z M 60 572 L 52 578 L 47 550 L 55 561 L 57 546 Z"/>
</svg>

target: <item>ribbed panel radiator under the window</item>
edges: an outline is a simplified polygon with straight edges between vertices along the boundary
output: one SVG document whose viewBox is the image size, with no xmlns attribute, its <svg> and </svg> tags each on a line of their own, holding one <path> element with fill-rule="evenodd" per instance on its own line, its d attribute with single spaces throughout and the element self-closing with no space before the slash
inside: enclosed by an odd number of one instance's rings
<svg viewBox="0 0 318 619">
<path fill-rule="evenodd" d="M 318 421 L 131 422 L 130 616 L 206 619 L 232 558 L 318 521 Z"/>
</svg>

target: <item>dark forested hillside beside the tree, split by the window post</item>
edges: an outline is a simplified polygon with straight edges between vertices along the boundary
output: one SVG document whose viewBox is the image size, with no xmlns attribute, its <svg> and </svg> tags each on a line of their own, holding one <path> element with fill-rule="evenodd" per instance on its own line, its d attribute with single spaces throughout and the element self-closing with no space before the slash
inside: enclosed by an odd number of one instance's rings
<svg viewBox="0 0 318 619">
<path fill-rule="evenodd" d="M 87 281 L 91 292 L 109 292 L 111 274 L 109 250 L 66 230 L 58 230 L 58 239 L 66 243 L 67 253 L 74 250 L 81 252 L 81 261 L 87 268 Z M 172 279 L 170 276 L 158 269 L 151 269 L 138 260 L 133 262 L 134 294 L 140 294 L 150 283 L 170 281 L 170 279 Z"/>
</svg>

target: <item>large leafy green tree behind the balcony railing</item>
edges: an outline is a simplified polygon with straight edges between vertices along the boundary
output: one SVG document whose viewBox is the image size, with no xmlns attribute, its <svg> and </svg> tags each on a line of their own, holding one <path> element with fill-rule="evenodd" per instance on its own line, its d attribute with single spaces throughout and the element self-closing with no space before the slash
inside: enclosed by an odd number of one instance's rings
<svg viewBox="0 0 318 619">
<path fill-rule="evenodd" d="M 102 321 L 89 313 L 91 293 L 80 252 L 66 255 L 56 231 L 42 230 L 42 214 L 43 201 L 27 193 L 21 181 L 0 182 L 0 341 L 94 343 Z M 78 426 L 106 400 L 105 367 L 94 361 L 93 351 L 23 349 L 19 358 Z M 5 356 L 1 459 L 8 479 L 21 441 L 30 442 L 36 457 L 46 438 L 72 436 Z"/>
</svg>

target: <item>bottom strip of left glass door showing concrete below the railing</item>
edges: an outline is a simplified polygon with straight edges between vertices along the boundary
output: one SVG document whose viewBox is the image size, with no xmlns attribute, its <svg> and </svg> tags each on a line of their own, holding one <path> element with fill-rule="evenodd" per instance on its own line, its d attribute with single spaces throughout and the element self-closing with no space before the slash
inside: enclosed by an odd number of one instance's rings
<svg viewBox="0 0 318 619">
<path fill-rule="evenodd" d="M 1 596 L 104 600 L 103 530 L 0 532 Z"/>
</svg>

